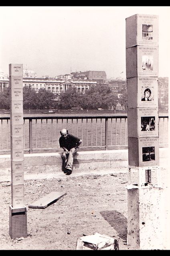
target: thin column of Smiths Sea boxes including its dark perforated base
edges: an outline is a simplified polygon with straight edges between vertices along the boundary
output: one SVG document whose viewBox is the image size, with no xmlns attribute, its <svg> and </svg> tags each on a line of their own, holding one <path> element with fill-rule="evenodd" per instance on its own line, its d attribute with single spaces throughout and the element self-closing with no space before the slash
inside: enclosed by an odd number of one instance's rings
<svg viewBox="0 0 170 256">
<path fill-rule="evenodd" d="M 27 237 L 24 206 L 24 124 L 22 64 L 9 64 L 11 194 L 10 237 Z"/>
</svg>

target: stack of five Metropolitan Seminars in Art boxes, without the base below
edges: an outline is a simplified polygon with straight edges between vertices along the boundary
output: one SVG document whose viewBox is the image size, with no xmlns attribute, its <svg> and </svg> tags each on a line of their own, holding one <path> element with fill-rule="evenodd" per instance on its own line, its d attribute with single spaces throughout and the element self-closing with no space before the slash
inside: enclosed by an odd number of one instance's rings
<svg viewBox="0 0 170 256">
<path fill-rule="evenodd" d="M 136 14 L 126 19 L 126 77 L 129 165 L 158 166 L 157 15 Z"/>
</svg>

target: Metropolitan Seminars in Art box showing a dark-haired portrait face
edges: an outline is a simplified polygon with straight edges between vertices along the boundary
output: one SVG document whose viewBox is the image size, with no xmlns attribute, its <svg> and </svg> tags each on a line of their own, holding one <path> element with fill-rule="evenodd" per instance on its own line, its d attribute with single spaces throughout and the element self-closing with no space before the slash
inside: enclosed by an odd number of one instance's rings
<svg viewBox="0 0 170 256">
<path fill-rule="evenodd" d="M 158 107 L 158 77 L 127 78 L 127 107 Z"/>
</svg>

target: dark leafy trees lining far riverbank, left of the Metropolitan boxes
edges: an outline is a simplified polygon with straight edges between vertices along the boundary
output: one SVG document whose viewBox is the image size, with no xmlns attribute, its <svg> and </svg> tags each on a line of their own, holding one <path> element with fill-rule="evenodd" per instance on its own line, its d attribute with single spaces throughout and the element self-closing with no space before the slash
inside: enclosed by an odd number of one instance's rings
<svg viewBox="0 0 170 256">
<path fill-rule="evenodd" d="M 10 108 L 9 88 L 0 92 L 0 109 Z M 95 85 L 86 93 L 77 93 L 76 88 L 68 89 L 61 93 L 59 101 L 55 101 L 55 95 L 46 89 L 36 92 L 31 87 L 23 88 L 23 107 L 24 109 L 71 109 L 82 107 L 83 109 L 115 109 L 117 102 L 121 105 L 127 104 L 127 94 L 118 99 L 111 93 L 108 86 Z"/>
</svg>

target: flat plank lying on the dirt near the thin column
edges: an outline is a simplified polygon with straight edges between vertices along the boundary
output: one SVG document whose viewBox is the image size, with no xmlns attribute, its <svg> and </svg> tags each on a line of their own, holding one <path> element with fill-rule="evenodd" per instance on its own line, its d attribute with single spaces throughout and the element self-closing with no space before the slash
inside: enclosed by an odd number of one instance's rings
<svg viewBox="0 0 170 256">
<path fill-rule="evenodd" d="M 55 203 L 57 200 L 59 200 L 62 196 L 65 196 L 66 194 L 67 193 L 64 192 L 51 192 L 47 196 L 43 196 L 34 203 L 28 205 L 28 208 L 44 209 L 50 204 Z"/>
</svg>

